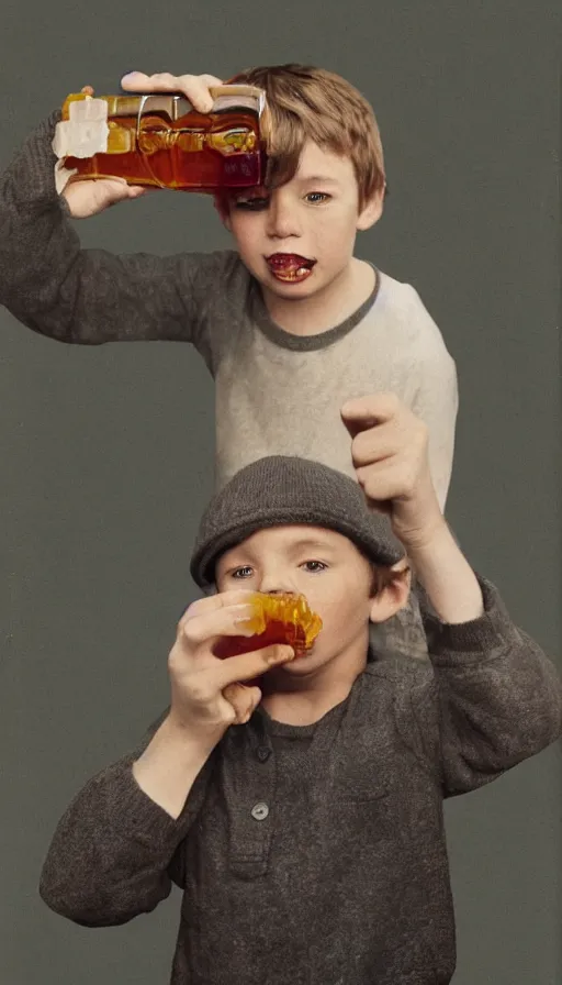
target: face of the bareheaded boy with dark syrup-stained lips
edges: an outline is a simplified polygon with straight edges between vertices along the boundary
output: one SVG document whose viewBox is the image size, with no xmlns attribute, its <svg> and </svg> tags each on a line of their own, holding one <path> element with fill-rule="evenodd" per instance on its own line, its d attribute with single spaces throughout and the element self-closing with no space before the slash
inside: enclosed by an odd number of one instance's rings
<svg viewBox="0 0 562 985">
<path fill-rule="evenodd" d="M 268 193 L 233 193 L 224 222 L 265 294 L 301 300 L 345 281 L 358 230 L 382 211 L 382 193 L 359 209 L 348 157 L 305 144 L 294 177 Z"/>
</svg>

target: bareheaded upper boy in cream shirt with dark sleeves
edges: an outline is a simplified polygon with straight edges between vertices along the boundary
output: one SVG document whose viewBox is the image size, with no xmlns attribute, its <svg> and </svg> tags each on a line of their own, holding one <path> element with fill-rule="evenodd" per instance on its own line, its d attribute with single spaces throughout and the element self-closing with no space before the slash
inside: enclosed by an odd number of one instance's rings
<svg viewBox="0 0 562 985">
<path fill-rule="evenodd" d="M 235 252 L 114 256 L 81 250 L 83 219 L 142 188 L 69 182 L 57 195 L 52 141 L 59 113 L 27 140 L 0 184 L 0 302 L 61 342 L 192 342 L 216 383 L 221 488 L 266 455 L 314 457 L 353 475 L 341 405 L 394 392 L 429 429 L 441 509 L 451 477 L 457 375 L 416 291 L 353 255 L 381 217 L 386 187 L 376 120 L 333 73 L 256 68 L 235 81 L 267 92 L 267 188 L 217 202 Z M 209 111 L 214 76 L 122 79 L 125 90 L 182 91 Z M 178 204 L 181 199 L 178 198 Z M 188 203 L 186 203 L 188 206 Z M 385 635 L 427 651 L 417 604 Z M 382 629 L 378 634 L 382 652 Z"/>
</svg>

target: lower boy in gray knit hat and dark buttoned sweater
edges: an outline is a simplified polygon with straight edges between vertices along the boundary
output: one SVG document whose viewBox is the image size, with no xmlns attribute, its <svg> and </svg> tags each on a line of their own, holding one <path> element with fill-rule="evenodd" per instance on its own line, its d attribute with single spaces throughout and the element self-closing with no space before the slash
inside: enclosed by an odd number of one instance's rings
<svg viewBox="0 0 562 985">
<path fill-rule="evenodd" d="M 154 909 L 176 882 L 173 985 L 446 985 L 442 799 L 562 730 L 554 668 L 447 528 L 426 428 L 394 398 L 345 420 L 359 485 L 274 456 L 212 501 L 191 571 L 217 594 L 180 621 L 169 712 L 72 801 L 45 863 L 45 901 L 92 927 Z M 369 619 L 407 597 L 404 547 L 435 610 L 431 662 L 369 661 Z M 324 621 L 311 654 L 214 656 L 248 588 L 306 595 Z M 266 671 L 261 690 L 241 683 Z"/>
</svg>

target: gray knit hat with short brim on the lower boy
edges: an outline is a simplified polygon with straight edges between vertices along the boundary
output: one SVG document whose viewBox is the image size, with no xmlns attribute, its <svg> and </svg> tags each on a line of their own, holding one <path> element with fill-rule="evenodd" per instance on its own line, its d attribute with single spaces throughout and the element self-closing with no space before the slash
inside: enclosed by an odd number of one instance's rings
<svg viewBox="0 0 562 985">
<path fill-rule="evenodd" d="M 200 588 L 213 585 L 225 551 L 284 523 L 336 530 L 375 564 L 395 564 L 405 553 L 389 520 L 368 510 L 353 479 L 318 462 L 274 455 L 247 465 L 211 500 L 191 558 L 193 580 Z"/>
</svg>

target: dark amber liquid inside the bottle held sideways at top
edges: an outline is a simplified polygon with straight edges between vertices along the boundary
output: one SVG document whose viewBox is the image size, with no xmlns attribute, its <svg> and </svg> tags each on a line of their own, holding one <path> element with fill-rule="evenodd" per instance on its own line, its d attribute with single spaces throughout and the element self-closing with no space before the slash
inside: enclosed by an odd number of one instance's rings
<svg viewBox="0 0 562 985">
<path fill-rule="evenodd" d="M 86 158 L 68 156 L 65 167 L 76 169 L 82 178 L 116 177 L 130 185 L 209 193 L 248 188 L 263 180 L 266 157 L 251 110 L 209 114 L 191 110 L 178 120 L 158 112 L 142 114 L 140 120 L 136 113 L 113 119 L 109 115 L 108 125 L 110 143 L 126 130 L 132 150 Z M 248 150 L 224 154 L 211 145 L 213 135 L 221 139 L 221 134 L 233 130 L 247 133 Z"/>
</svg>

